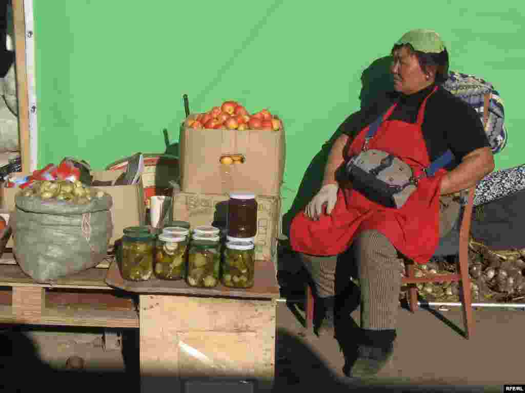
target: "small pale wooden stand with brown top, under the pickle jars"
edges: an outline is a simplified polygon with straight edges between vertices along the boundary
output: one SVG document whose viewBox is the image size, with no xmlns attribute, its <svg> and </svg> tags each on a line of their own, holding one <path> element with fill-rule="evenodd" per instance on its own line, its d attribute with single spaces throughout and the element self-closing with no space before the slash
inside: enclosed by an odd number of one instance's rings
<svg viewBox="0 0 525 393">
<path fill-rule="evenodd" d="M 272 261 L 256 261 L 250 289 L 125 281 L 116 263 L 106 282 L 139 293 L 141 391 L 182 392 L 189 381 L 209 379 L 271 390 L 279 297 Z"/>
</svg>

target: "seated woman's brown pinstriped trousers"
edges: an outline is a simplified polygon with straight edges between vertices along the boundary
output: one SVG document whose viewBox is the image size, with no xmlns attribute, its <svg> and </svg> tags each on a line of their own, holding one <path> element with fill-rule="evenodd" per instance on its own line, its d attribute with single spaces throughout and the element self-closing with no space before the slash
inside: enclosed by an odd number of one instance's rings
<svg viewBox="0 0 525 393">
<path fill-rule="evenodd" d="M 440 198 L 440 237 L 451 231 L 459 211 L 460 204 L 453 195 Z M 361 328 L 395 329 L 403 261 L 396 248 L 382 233 L 364 231 L 355 237 L 346 254 L 348 257 L 340 259 L 339 263 L 356 265 L 361 286 Z M 299 255 L 310 272 L 317 296 L 335 296 L 335 267 L 338 256 Z"/>
</svg>

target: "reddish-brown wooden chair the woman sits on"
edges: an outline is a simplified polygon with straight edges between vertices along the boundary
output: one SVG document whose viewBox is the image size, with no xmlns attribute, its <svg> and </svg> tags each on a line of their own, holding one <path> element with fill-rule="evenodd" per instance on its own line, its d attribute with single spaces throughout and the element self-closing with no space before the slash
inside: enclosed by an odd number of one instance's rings
<svg viewBox="0 0 525 393">
<path fill-rule="evenodd" d="M 418 309 L 417 304 L 417 283 L 424 282 L 460 282 L 460 298 L 463 307 L 463 322 L 465 328 L 465 338 L 468 339 L 474 327 L 474 317 L 472 316 L 472 300 L 470 289 L 470 276 L 468 274 L 468 241 L 470 234 L 470 221 L 472 218 L 472 208 L 474 206 L 474 192 L 476 188 L 468 190 L 468 199 L 463 207 L 463 216 L 459 217 L 459 250 L 456 259 L 457 273 L 448 275 L 426 275 L 425 277 L 415 277 L 414 264 L 406 264 L 406 277 L 401 280 L 402 285 L 408 285 L 408 305 L 412 312 Z M 439 247 L 438 247 L 439 250 Z M 443 254 L 436 254 L 442 256 Z M 306 328 L 309 330 L 313 322 L 314 297 L 310 285 L 306 285 Z"/>
</svg>

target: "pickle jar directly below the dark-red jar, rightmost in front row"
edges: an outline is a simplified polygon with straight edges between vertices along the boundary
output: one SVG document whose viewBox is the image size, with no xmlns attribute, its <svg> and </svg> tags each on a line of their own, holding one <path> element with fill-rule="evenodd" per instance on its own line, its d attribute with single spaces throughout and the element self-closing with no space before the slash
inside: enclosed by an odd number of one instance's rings
<svg viewBox="0 0 525 393">
<path fill-rule="evenodd" d="M 251 288 L 255 276 L 255 246 L 248 242 L 228 242 L 224 250 L 222 283 L 226 287 Z"/>
</svg>

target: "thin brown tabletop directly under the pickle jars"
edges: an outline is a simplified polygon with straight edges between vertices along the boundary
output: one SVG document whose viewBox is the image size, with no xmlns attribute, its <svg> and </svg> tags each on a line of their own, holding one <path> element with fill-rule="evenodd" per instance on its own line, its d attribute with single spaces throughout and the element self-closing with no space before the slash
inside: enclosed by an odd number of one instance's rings
<svg viewBox="0 0 525 393">
<path fill-rule="evenodd" d="M 215 288 L 194 288 L 184 280 L 160 280 L 152 277 L 148 281 L 128 281 L 122 278 L 117 263 L 108 269 L 106 283 L 111 287 L 138 293 L 185 294 L 188 296 L 222 296 L 229 298 L 276 299 L 279 286 L 275 265 L 270 260 L 255 261 L 255 283 L 252 288 L 228 288 L 219 283 Z M 0 283 L 1 285 L 1 283 Z"/>
</svg>

